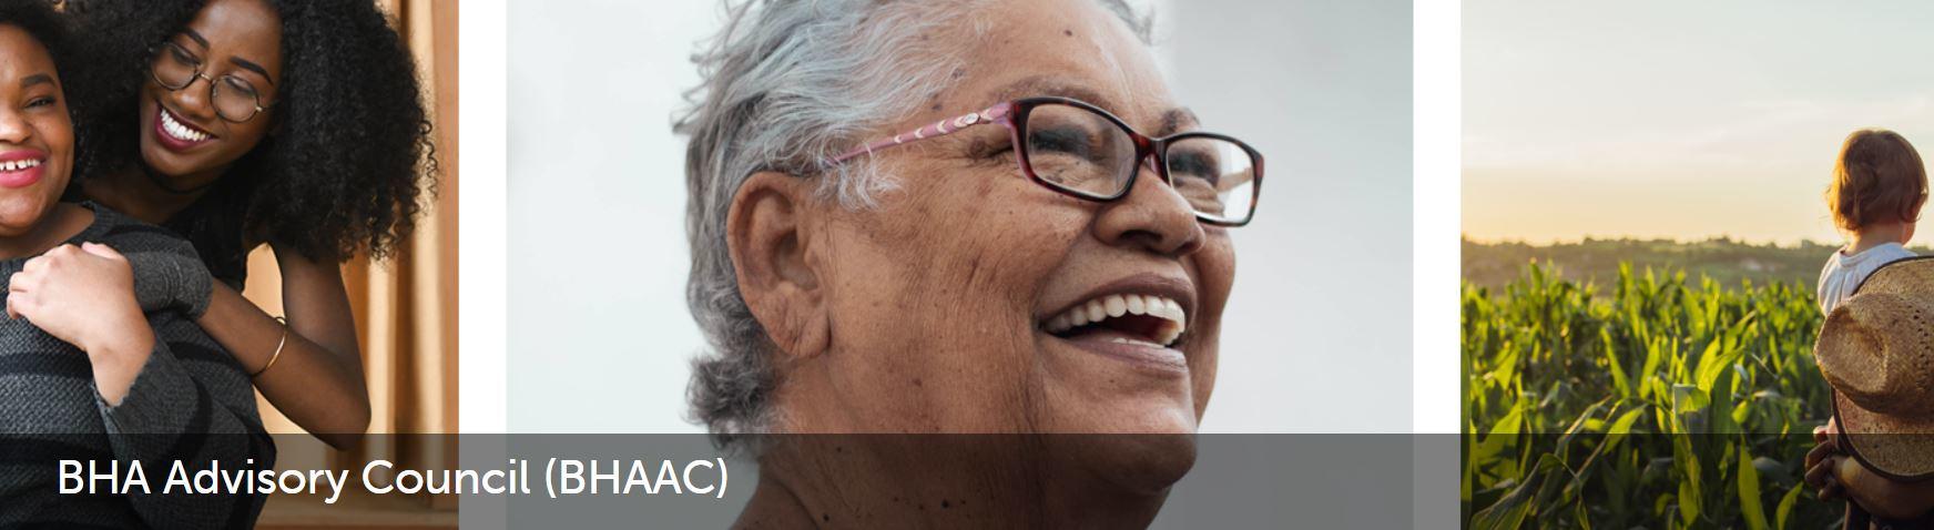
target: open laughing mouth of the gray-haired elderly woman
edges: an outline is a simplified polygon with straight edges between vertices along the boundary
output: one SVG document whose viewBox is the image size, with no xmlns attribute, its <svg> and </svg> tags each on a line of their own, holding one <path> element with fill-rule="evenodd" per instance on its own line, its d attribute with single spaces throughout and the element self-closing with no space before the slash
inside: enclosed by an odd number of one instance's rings
<svg viewBox="0 0 1934 530">
<path fill-rule="evenodd" d="M 1187 331 L 1187 311 L 1164 296 L 1108 294 L 1068 308 L 1040 329 L 1060 339 L 1097 335 L 1108 342 L 1168 348 Z"/>
</svg>

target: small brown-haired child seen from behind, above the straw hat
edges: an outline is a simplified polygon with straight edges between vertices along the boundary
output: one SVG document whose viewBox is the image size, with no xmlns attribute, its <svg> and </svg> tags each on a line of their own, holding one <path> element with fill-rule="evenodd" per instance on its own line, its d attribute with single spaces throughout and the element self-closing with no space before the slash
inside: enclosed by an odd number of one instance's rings
<svg viewBox="0 0 1934 530">
<path fill-rule="evenodd" d="M 1847 135 L 1833 164 L 1833 184 L 1826 188 L 1826 205 L 1851 242 L 1820 269 L 1822 315 L 1853 296 L 1853 288 L 1880 265 L 1915 255 L 1905 244 L 1915 236 L 1926 199 L 1926 166 L 1905 137 L 1890 130 Z"/>
</svg>

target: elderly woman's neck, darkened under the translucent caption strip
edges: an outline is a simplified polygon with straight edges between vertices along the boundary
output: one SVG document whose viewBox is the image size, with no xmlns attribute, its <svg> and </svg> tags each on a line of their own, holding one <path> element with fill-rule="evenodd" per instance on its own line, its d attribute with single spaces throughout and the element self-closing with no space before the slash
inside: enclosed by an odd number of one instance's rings
<svg viewBox="0 0 1934 530">
<path fill-rule="evenodd" d="M 776 435 L 735 528 L 1143 528 L 1135 491 L 1027 435 Z M 1066 456 L 1066 455 L 1060 455 Z"/>
</svg>

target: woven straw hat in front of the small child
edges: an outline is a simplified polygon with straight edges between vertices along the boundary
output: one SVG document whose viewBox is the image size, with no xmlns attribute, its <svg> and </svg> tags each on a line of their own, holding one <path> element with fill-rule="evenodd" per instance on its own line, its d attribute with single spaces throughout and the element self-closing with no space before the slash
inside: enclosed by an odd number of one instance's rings
<svg viewBox="0 0 1934 530">
<path fill-rule="evenodd" d="M 1866 277 L 1814 344 L 1841 445 L 1893 480 L 1934 478 L 1934 257 Z"/>
</svg>

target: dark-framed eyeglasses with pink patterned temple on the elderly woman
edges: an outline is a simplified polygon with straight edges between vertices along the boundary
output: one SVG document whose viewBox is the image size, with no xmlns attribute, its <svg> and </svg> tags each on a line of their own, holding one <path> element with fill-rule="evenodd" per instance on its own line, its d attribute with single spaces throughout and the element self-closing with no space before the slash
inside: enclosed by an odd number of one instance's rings
<svg viewBox="0 0 1934 530">
<path fill-rule="evenodd" d="M 1187 199 L 1203 222 L 1242 226 L 1255 217 L 1263 190 L 1263 153 L 1255 147 L 1207 132 L 1147 137 L 1108 110 L 1066 97 L 1000 103 L 855 147 L 828 164 L 992 122 L 1008 126 L 1021 174 L 1048 190 L 1116 201 L 1135 188 L 1143 162 L 1153 161 L 1149 168 Z"/>
</svg>

